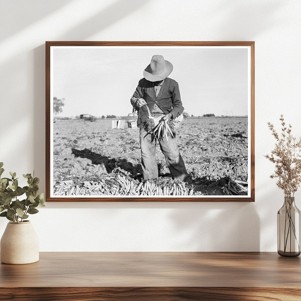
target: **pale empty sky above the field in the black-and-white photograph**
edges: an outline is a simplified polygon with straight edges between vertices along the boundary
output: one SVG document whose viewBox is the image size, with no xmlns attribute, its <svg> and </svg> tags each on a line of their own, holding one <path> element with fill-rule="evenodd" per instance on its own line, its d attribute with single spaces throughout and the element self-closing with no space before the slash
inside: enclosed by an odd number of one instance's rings
<svg viewBox="0 0 301 301">
<path fill-rule="evenodd" d="M 154 54 L 173 65 L 183 107 L 195 116 L 247 115 L 247 48 L 54 48 L 53 96 L 58 116 L 126 116 Z"/>
</svg>

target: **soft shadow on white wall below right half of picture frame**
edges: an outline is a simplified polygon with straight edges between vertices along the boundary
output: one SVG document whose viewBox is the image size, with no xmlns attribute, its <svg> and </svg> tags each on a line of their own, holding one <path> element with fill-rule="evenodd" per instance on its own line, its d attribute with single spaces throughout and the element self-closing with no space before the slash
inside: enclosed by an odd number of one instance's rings
<svg viewBox="0 0 301 301">
<path fill-rule="evenodd" d="M 178 236 L 175 250 L 260 250 L 260 223 L 254 203 L 197 203 L 192 208 L 187 203 L 181 210 L 173 210 L 169 218 Z"/>
</svg>

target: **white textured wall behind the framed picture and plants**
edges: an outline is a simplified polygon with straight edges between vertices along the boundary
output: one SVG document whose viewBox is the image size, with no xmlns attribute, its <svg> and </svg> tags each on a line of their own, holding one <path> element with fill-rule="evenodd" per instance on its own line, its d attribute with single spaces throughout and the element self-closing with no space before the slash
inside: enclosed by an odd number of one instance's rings
<svg viewBox="0 0 301 301">
<path fill-rule="evenodd" d="M 300 11 L 297 0 L 0 1 L 0 161 L 34 169 L 42 191 L 46 40 L 256 41 L 255 203 L 48 203 L 31 217 L 40 250 L 276 251 L 283 194 L 263 155 L 281 113 L 301 135 Z"/>
</svg>

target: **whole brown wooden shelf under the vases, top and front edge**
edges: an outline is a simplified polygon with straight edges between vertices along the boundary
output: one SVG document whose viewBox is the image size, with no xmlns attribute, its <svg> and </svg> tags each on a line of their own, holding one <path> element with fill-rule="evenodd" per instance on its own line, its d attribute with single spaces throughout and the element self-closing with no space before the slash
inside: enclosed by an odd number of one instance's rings
<svg viewBox="0 0 301 301">
<path fill-rule="evenodd" d="M 300 258 L 277 253 L 43 252 L 0 278 L 1 300 L 301 300 Z"/>
</svg>

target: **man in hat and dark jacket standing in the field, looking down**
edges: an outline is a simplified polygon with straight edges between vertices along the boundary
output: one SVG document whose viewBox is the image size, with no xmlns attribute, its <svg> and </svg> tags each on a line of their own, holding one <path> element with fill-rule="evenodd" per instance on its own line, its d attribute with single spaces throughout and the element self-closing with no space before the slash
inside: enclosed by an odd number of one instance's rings
<svg viewBox="0 0 301 301">
<path fill-rule="evenodd" d="M 144 130 L 145 122 L 148 119 L 146 106 L 154 118 L 167 122 L 180 116 L 184 110 L 178 83 L 167 77 L 172 69 L 172 64 L 164 60 L 162 55 L 154 55 L 151 63 L 143 71 L 144 78 L 140 79 L 131 98 L 133 111 L 138 111 L 137 126 L 140 128 L 141 166 L 144 179 L 158 177 L 156 161 L 158 141 L 172 178 L 191 184 L 191 176 L 186 171 L 176 139 L 172 136 L 169 136 L 168 141 L 167 137 L 156 139 L 154 136 L 152 137 L 151 133 L 148 134 Z"/>
</svg>

